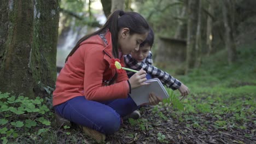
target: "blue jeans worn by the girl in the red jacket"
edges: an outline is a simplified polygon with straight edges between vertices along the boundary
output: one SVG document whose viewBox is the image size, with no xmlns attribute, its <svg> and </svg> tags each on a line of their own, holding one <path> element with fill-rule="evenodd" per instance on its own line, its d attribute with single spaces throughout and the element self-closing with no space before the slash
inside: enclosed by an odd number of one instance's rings
<svg viewBox="0 0 256 144">
<path fill-rule="evenodd" d="M 131 97 L 109 101 L 86 100 L 84 96 L 75 97 L 54 106 L 55 111 L 63 118 L 76 124 L 113 134 L 118 131 L 121 118 L 138 109 Z"/>
</svg>

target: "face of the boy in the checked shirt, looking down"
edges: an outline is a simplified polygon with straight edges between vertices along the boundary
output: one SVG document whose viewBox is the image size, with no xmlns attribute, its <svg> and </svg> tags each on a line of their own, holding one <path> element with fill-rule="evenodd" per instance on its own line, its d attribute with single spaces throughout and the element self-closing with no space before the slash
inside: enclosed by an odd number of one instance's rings
<svg viewBox="0 0 256 144">
<path fill-rule="evenodd" d="M 142 47 L 139 47 L 139 50 L 133 50 L 131 52 L 132 58 L 134 58 L 137 62 L 142 62 L 145 58 L 147 58 L 148 53 L 150 51 L 151 46 L 147 43 Z"/>
</svg>

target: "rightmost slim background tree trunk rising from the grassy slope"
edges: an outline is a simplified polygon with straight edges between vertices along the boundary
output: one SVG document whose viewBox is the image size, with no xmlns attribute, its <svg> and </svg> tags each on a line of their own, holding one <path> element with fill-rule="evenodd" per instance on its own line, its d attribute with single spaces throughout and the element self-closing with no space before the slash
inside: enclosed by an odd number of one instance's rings
<svg viewBox="0 0 256 144">
<path fill-rule="evenodd" d="M 232 31 L 234 10 L 232 10 L 232 2 L 229 0 L 222 1 L 222 12 L 223 12 L 223 22 L 225 27 L 225 47 L 228 51 L 228 62 L 232 64 L 236 60 L 236 45 L 234 41 L 234 33 Z M 230 9 L 229 9 L 230 8 Z"/>
</svg>

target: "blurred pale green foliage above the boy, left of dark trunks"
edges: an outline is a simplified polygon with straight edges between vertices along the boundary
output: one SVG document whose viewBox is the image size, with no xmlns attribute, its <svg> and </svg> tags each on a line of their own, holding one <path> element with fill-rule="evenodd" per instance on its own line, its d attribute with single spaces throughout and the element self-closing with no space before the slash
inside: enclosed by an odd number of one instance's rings
<svg viewBox="0 0 256 144">
<path fill-rule="evenodd" d="M 179 22 L 176 18 L 183 7 L 183 2 L 151 0 L 137 2 L 136 5 L 139 5 L 139 13 L 147 19 L 153 29 L 158 30 L 158 34 L 173 37 Z"/>
</svg>

